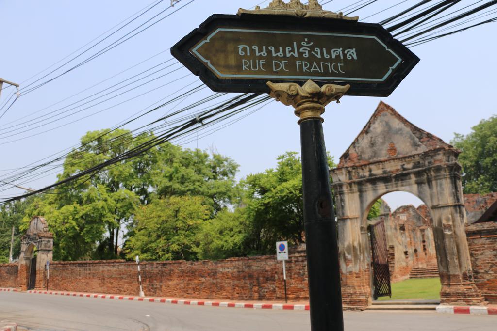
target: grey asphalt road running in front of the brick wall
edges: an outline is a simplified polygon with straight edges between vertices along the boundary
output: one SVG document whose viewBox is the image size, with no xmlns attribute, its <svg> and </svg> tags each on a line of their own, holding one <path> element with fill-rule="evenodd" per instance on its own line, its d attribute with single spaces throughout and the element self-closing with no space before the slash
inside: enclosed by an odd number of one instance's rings
<svg viewBox="0 0 497 331">
<path fill-rule="evenodd" d="M 344 312 L 346 331 L 496 331 L 496 316 Z M 308 331 L 309 312 L 0 292 L 0 321 L 28 330 Z"/>
</svg>

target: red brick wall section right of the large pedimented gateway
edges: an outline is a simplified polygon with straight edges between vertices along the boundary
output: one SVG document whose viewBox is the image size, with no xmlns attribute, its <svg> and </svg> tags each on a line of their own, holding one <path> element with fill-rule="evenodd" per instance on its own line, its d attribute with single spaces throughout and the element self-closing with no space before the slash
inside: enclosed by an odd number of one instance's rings
<svg viewBox="0 0 497 331">
<path fill-rule="evenodd" d="M 485 300 L 497 304 L 497 223 L 466 227 L 475 284 Z"/>
</svg>

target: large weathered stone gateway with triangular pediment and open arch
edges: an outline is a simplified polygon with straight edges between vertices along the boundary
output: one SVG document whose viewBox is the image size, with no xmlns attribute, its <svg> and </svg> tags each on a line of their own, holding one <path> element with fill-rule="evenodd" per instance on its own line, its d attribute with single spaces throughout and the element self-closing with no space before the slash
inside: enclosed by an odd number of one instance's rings
<svg viewBox="0 0 497 331">
<path fill-rule="evenodd" d="M 433 234 L 442 304 L 482 305 L 475 286 L 465 226 L 459 151 L 381 102 L 331 170 L 338 219 L 344 306 L 371 302 L 367 214 L 381 196 L 409 192 L 425 202 Z"/>
</svg>

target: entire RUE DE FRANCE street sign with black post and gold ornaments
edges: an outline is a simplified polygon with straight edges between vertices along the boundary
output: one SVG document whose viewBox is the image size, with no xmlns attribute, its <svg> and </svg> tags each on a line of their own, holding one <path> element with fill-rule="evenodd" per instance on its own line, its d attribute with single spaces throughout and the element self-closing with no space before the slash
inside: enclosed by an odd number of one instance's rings
<svg viewBox="0 0 497 331">
<path fill-rule="evenodd" d="M 299 117 L 312 331 L 342 331 L 336 220 L 321 115 L 347 95 L 388 96 L 419 62 L 380 24 L 317 0 L 214 14 L 171 54 L 216 92 L 269 93 Z"/>
</svg>

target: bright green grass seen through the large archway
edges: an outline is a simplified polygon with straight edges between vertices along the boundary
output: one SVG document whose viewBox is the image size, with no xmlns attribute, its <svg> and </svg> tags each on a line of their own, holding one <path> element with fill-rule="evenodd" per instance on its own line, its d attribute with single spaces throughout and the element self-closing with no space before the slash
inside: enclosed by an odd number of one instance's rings
<svg viewBox="0 0 497 331">
<path fill-rule="evenodd" d="M 401 299 L 440 299 L 440 278 L 414 278 L 392 283 L 392 298 L 380 297 L 378 301 Z"/>
</svg>

